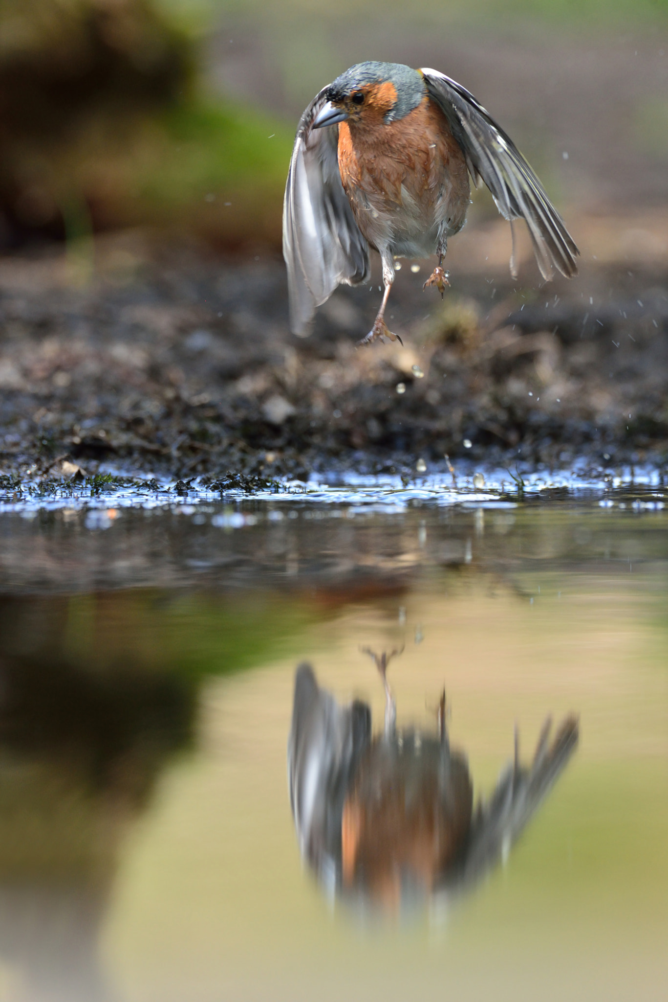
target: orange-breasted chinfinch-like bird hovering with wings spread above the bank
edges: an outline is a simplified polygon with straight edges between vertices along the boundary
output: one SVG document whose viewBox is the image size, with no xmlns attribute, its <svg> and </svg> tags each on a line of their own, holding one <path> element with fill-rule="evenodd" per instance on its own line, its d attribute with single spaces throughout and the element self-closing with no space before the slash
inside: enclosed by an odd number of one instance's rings
<svg viewBox="0 0 668 1002">
<path fill-rule="evenodd" d="M 504 218 L 529 227 L 543 279 L 577 274 L 580 252 L 539 178 L 492 115 L 435 69 L 363 62 L 323 87 L 296 130 L 283 199 L 282 245 L 290 328 L 308 333 L 315 308 L 340 284 L 370 278 L 370 248 L 385 292 L 360 344 L 401 341 L 385 322 L 398 258 L 438 255 L 424 285 L 443 298 L 448 238 L 482 179 Z M 511 274 L 517 275 L 515 234 Z"/>
</svg>

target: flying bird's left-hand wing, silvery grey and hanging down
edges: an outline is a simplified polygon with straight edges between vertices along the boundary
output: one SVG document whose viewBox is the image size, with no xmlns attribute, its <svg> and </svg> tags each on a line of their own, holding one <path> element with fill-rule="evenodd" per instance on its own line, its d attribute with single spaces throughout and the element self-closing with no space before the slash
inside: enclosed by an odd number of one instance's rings
<svg viewBox="0 0 668 1002">
<path fill-rule="evenodd" d="M 321 90 L 301 115 L 283 199 L 283 258 L 290 327 L 304 328 L 340 283 L 369 278 L 369 245 L 355 221 L 339 173 L 339 125 L 312 128 Z"/>
</svg>

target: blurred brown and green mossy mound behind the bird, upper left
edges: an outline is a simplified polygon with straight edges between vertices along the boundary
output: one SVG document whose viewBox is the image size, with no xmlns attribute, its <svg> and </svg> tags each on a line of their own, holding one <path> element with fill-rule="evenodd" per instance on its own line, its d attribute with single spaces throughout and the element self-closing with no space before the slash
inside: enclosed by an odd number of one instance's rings
<svg viewBox="0 0 668 1002">
<path fill-rule="evenodd" d="M 14 239 L 74 244 L 144 223 L 279 238 L 291 131 L 199 95 L 176 13 L 149 0 L 11 0 L 0 13 L 0 210 Z"/>
</svg>

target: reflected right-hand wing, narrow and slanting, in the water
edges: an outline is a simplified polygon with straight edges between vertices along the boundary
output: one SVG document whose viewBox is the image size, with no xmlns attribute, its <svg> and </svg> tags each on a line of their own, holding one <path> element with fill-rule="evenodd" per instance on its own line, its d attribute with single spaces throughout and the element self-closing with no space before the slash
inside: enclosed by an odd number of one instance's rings
<svg viewBox="0 0 668 1002">
<path fill-rule="evenodd" d="M 577 746 L 579 727 L 577 717 L 567 716 L 550 747 L 551 722 L 548 718 L 543 726 L 531 767 L 522 769 L 516 756 L 490 801 L 479 804 L 466 850 L 459 865 L 444 880 L 443 890 L 470 890 L 500 859 L 505 859 L 556 783 Z"/>
</svg>

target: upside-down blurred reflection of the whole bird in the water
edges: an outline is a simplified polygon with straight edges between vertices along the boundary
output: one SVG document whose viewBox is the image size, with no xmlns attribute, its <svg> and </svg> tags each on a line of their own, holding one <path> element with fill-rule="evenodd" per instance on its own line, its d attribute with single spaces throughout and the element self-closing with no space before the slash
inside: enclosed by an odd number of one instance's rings
<svg viewBox="0 0 668 1002">
<path fill-rule="evenodd" d="M 367 652 L 386 691 L 375 737 L 366 703 L 341 705 L 310 665 L 297 668 L 290 804 L 301 855 L 327 891 L 396 911 L 469 890 L 507 856 L 575 750 L 578 721 L 567 716 L 550 741 L 548 718 L 526 766 L 516 733 L 513 760 L 474 809 L 466 756 L 450 746 L 445 691 L 438 729 L 400 730 L 387 677 L 393 655 Z"/>
</svg>

